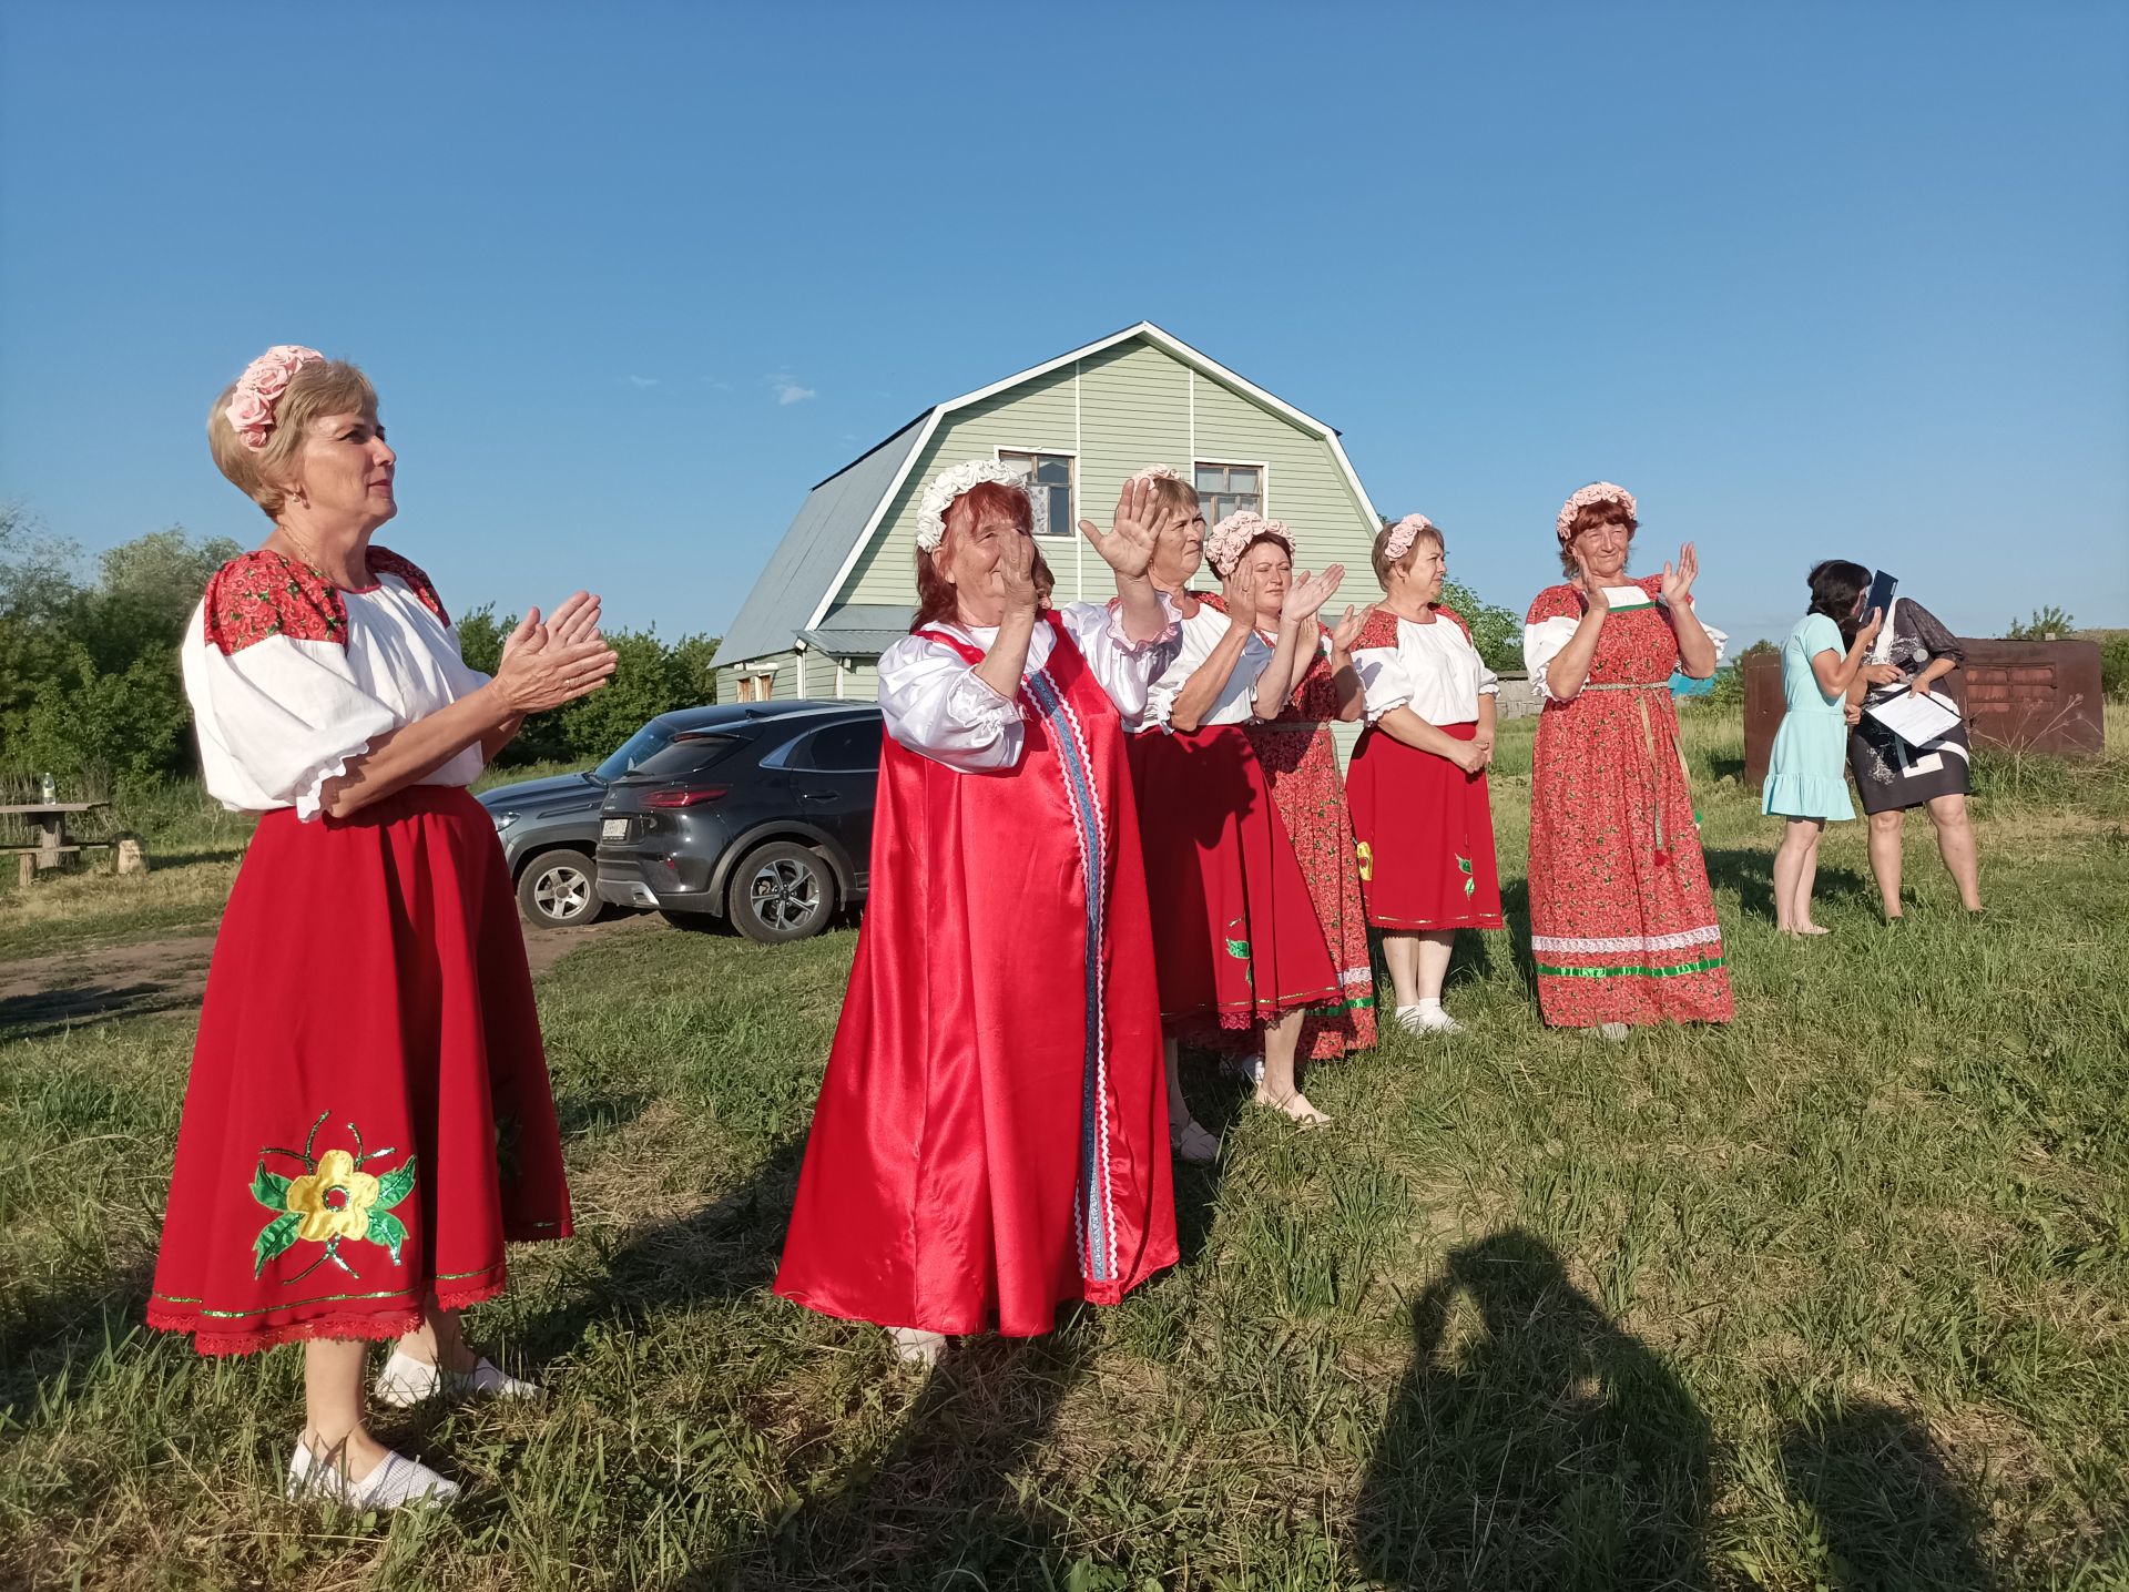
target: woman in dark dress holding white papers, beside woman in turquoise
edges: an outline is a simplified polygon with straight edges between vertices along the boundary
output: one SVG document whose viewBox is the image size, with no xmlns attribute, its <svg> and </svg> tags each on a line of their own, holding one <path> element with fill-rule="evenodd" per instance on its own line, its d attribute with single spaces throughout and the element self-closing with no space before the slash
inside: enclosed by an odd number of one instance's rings
<svg viewBox="0 0 2129 1592">
<path fill-rule="evenodd" d="M 1854 621 L 1850 621 L 1854 624 Z M 1965 662 L 1959 639 L 1937 615 L 1910 598 L 1893 598 L 1884 628 L 1871 647 L 1874 664 L 1891 664 L 1897 679 L 1850 687 L 1848 766 L 1869 813 L 1869 868 L 1878 877 L 1878 896 L 1888 922 L 1899 919 L 1899 853 L 1901 822 L 1910 807 L 1929 807 L 1937 828 L 1937 856 L 1944 858 L 1959 900 L 1969 913 L 1982 909 L 1980 862 L 1974 851 L 1974 824 L 1967 819 L 1967 726 L 1954 717 L 1931 724 L 1916 745 L 1871 709 L 1884 709 L 1901 696 L 1933 698 L 1931 687 Z M 1856 700 L 1861 694 L 1861 700 Z M 1950 707 L 1948 698 L 1935 696 Z M 1957 709 L 1954 709 L 1957 713 Z"/>
</svg>

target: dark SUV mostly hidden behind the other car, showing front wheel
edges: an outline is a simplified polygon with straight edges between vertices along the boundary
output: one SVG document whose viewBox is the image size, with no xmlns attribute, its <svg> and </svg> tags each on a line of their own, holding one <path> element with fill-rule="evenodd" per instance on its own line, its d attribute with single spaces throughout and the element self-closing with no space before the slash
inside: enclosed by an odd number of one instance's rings
<svg viewBox="0 0 2129 1592">
<path fill-rule="evenodd" d="M 660 713 L 590 773 L 524 779 L 479 794 L 496 819 L 502 860 L 517 881 L 517 905 L 543 928 L 577 928 L 600 913 L 592 888 L 592 851 L 598 847 L 598 809 L 607 785 L 698 724 L 713 724 L 730 709 L 683 707 Z"/>
</svg>

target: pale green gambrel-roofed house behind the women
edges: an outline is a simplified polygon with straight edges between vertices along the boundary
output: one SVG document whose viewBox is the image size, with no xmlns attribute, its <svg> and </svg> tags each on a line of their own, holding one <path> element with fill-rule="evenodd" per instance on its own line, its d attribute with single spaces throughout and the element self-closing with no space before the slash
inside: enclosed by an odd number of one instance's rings
<svg viewBox="0 0 2129 1592">
<path fill-rule="evenodd" d="M 1284 519 L 1297 564 L 1346 566 L 1341 602 L 1380 596 L 1367 562 L 1380 519 L 1337 430 L 1139 321 L 926 409 L 815 485 L 724 634 L 720 700 L 871 700 L 873 666 L 915 611 L 918 496 L 977 458 L 1024 462 L 1050 490 L 1058 602 L 1113 596 L 1075 526 L 1107 526 L 1124 477 L 1148 464 L 1194 470 L 1207 524 L 1235 509 Z"/>
</svg>

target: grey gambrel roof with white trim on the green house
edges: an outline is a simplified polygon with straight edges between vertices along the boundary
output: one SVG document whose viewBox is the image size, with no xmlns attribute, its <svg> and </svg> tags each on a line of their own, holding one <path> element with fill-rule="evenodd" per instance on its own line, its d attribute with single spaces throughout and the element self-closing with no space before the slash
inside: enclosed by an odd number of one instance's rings
<svg viewBox="0 0 2129 1592">
<path fill-rule="evenodd" d="M 1199 353 L 1152 321 L 1139 321 L 1003 381 L 992 381 L 988 387 L 964 392 L 960 398 L 950 398 L 943 404 L 926 409 L 890 438 L 815 485 L 798 507 L 798 517 L 792 519 L 790 530 L 783 532 L 777 551 L 769 555 L 769 568 L 762 570 L 762 577 L 754 583 L 739 615 L 726 630 L 717 647 L 717 664 L 741 664 L 749 658 L 788 651 L 801 639 L 828 656 L 871 658 L 884 651 L 894 639 L 907 634 L 909 619 L 903 609 L 841 604 L 830 613 L 830 607 L 835 607 L 837 592 L 843 590 L 849 573 L 858 566 L 858 560 L 873 541 L 873 532 L 879 530 L 879 521 L 894 504 L 896 494 L 924 453 L 924 445 L 939 430 L 939 424 L 958 409 L 996 398 L 1009 387 L 1045 377 L 1075 360 L 1088 360 L 1130 338 L 1145 338 L 1209 381 L 1218 381 L 1231 392 L 1269 409 L 1273 415 L 1288 419 L 1303 432 L 1320 436 L 1331 447 L 1331 455 L 1337 460 L 1360 509 L 1369 519 L 1375 517 L 1375 504 L 1346 458 L 1335 426 L 1294 409 L 1284 398 L 1265 392 L 1248 377 Z"/>
</svg>

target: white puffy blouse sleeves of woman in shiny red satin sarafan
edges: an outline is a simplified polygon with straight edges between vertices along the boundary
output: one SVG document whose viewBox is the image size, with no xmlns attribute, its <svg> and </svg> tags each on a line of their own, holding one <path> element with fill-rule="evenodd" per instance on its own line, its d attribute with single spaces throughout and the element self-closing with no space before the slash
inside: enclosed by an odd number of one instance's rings
<svg viewBox="0 0 2129 1592">
<path fill-rule="evenodd" d="M 1116 702 L 1126 730 L 1137 728 L 1148 687 L 1179 645 L 1175 611 L 1165 596 L 1160 602 L 1169 628 L 1152 641 L 1130 641 L 1122 615 L 1101 602 L 1067 602 L 1056 611 L 1101 690 Z M 999 639 L 996 626 L 943 619 L 926 630 L 958 636 L 981 653 Z M 1037 619 L 1035 634 L 1028 636 L 1026 673 L 1047 664 L 1054 647 L 1050 624 Z M 975 673 L 975 664 L 922 634 L 903 636 L 879 653 L 879 711 L 896 743 L 964 775 L 1011 768 L 1026 745 L 1020 700 L 999 696 Z"/>
</svg>

